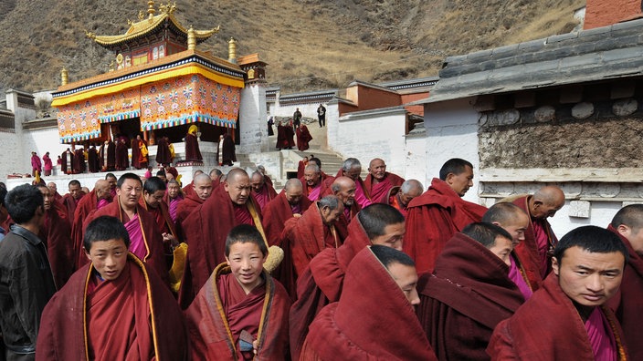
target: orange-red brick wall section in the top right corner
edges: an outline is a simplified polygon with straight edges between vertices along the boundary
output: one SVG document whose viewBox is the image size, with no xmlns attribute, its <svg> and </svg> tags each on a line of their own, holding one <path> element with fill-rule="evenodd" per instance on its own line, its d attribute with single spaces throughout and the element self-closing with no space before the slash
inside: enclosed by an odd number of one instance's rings
<svg viewBox="0 0 643 361">
<path fill-rule="evenodd" d="M 641 0 L 587 0 L 585 29 L 610 26 L 641 16 Z"/>
</svg>

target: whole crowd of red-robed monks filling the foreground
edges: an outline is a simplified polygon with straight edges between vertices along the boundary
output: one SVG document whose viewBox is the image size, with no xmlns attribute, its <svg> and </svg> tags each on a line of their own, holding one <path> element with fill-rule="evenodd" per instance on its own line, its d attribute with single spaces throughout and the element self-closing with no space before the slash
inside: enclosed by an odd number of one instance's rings
<svg viewBox="0 0 643 361">
<path fill-rule="evenodd" d="M 196 171 L 183 188 L 133 173 L 87 193 L 71 180 L 65 196 L 0 188 L 0 307 L 19 317 L 27 301 L 7 301 L 2 267 L 20 257 L 7 238 L 39 238 L 55 285 L 34 291 L 48 303 L 22 337 L 2 315 L 3 356 L 643 359 L 643 204 L 559 240 L 553 185 L 487 209 L 462 199 L 467 160 L 427 191 L 385 160 L 367 170 L 348 158 L 332 176 L 311 157 L 279 193 L 260 166 Z M 43 200 L 31 218 L 11 203 L 25 187 Z"/>
</svg>

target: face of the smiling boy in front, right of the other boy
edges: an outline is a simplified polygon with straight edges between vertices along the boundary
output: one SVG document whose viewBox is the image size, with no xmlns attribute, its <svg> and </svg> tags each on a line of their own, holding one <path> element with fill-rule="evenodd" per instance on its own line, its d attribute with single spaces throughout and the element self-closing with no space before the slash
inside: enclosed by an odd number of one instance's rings
<svg viewBox="0 0 643 361">
<path fill-rule="evenodd" d="M 236 242 L 230 245 L 226 263 L 246 294 L 261 283 L 261 273 L 266 258 L 267 256 L 261 253 L 258 245 L 253 242 Z"/>
</svg>

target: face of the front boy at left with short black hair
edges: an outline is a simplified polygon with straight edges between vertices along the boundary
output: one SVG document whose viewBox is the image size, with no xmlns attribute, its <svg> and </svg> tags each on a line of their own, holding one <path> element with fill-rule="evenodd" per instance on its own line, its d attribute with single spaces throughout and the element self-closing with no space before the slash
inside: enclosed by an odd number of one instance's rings
<svg viewBox="0 0 643 361">
<path fill-rule="evenodd" d="M 85 254 L 105 281 L 119 278 L 127 263 L 127 246 L 123 240 L 91 242 L 91 249 L 85 250 Z"/>
</svg>

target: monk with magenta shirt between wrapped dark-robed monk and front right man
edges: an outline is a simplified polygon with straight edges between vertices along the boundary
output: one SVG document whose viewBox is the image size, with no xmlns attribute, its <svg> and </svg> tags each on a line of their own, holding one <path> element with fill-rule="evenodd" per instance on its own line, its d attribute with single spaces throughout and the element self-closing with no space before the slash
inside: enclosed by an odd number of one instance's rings
<svg viewBox="0 0 643 361">
<path fill-rule="evenodd" d="M 531 259 L 522 260 L 515 252 L 518 244 L 524 241 L 524 232 L 529 227 L 529 217 L 525 211 L 513 203 L 499 202 L 492 205 L 484 216 L 482 222 L 495 224 L 511 234 L 513 249 L 509 266 L 509 278 L 518 285 L 525 299 L 532 296 L 533 291 L 540 288 L 543 283 L 537 263 Z"/>
</svg>

